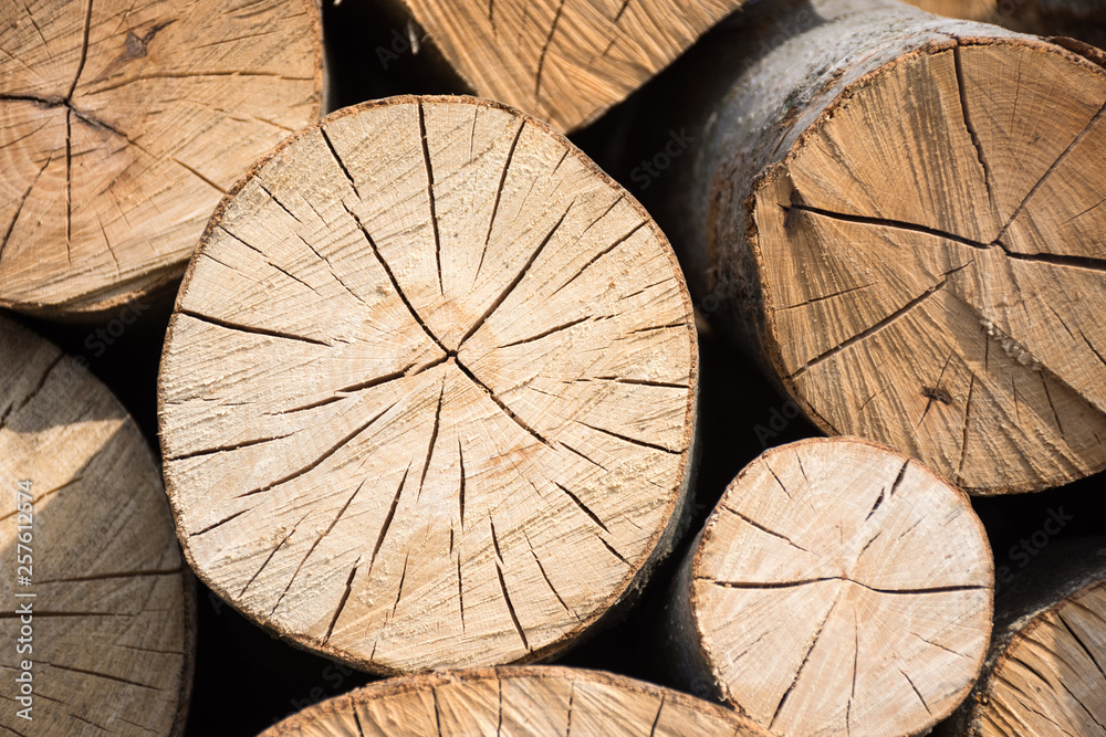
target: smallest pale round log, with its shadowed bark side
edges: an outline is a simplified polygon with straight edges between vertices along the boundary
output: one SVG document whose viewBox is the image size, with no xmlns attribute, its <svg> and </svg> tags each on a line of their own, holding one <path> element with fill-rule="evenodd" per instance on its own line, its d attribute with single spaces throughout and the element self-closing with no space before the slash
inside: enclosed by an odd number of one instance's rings
<svg viewBox="0 0 1106 737">
<path fill-rule="evenodd" d="M 993 583 L 963 493 L 889 448 L 805 440 L 726 489 L 665 644 L 681 684 L 775 734 L 918 735 L 979 674 Z"/>
</svg>

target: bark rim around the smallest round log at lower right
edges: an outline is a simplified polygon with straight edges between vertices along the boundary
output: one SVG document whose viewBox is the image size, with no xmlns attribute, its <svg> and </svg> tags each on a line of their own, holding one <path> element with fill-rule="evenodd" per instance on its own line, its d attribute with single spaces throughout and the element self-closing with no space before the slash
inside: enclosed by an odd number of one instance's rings
<svg viewBox="0 0 1106 737">
<path fill-rule="evenodd" d="M 733 477 L 733 481 L 727 485 L 726 491 L 722 493 L 722 497 L 718 501 L 714 509 L 710 513 L 702 531 L 699 533 L 699 536 L 693 543 L 693 547 L 688 551 L 687 557 L 681 564 L 680 572 L 672 582 L 669 604 L 666 607 L 666 610 L 669 612 L 667 623 L 671 627 L 671 635 L 668 638 L 668 644 L 669 647 L 671 647 L 676 653 L 672 657 L 672 662 L 676 668 L 678 668 L 677 674 L 681 677 L 682 683 L 690 686 L 693 693 L 702 696 L 703 698 L 712 698 L 722 702 L 727 706 L 735 709 L 742 716 L 748 715 L 738 703 L 732 701 L 729 689 L 726 686 L 726 682 L 721 678 L 719 672 L 713 667 L 714 661 L 710 657 L 709 647 L 707 647 L 703 640 L 703 632 L 699 628 L 699 623 L 702 621 L 702 618 L 699 617 L 700 604 L 697 601 L 696 590 L 692 585 L 695 579 L 698 578 L 699 567 L 702 562 L 703 548 L 710 543 L 714 525 L 717 524 L 718 517 L 722 512 L 722 504 L 729 497 L 730 489 L 734 488 L 744 480 L 753 464 L 764 462 L 769 456 L 775 455 L 776 453 L 794 451 L 804 445 L 816 445 L 822 443 L 867 445 L 885 453 L 889 453 L 890 455 L 901 459 L 904 462 L 914 463 L 919 471 L 928 474 L 933 480 L 948 487 L 950 492 L 960 497 L 960 499 L 964 503 L 964 506 L 972 512 L 970 517 L 975 523 L 980 539 L 983 541 L 983 547 L 989 554 L 987 557 L 987 572 L 989 573 L 991 586 L 987 589 L 989 594 L 987 603 L 990 612 L 989 619 L 993 621 L 994 618 L 994 556 L 991 551 L 991 543 L 988 539 L 987 529 L 983 527 L 983 523 L 980 520 L 979 516 L 974 514 L 971 505 L 971 497 L 967 493 L 942 478 L 940 475 L 931 471 L 929 466 L 922 464 L 917 459 L 906 455 L 889 445 L 884 445 L 883 443 L 877 443 L 866 438 L 858 438 L 854 435 L 806 438 L 793 443 L 770 448 L 750 461 L 748 465 L 745 465 L 745 467 L 743 467 L 738 475 Z M 687 592 L 686 596 L 685 592 Z M 977 683 L 982 682 L 980 672 L 985 667 L 988 652 L 993 643 L 992 631 L 989 630 L 987 635 L 988 642 L 984 643 L 974 667 L 977 677 L 964 684 L 953 701 L 950 702 L 951 705 L 949 707 L 942 712 L 931 714 L 927 723 L 918 730 L 909 733 L 910 735 L 924 735 L 929 733 L 935 725 L 947 718 L 956 710 L 957 705 L 960 704 L 969 693 L 971 693 Z M 709 678 L 703 678 L 705 673 L 709 674 Z"/>
</svg>

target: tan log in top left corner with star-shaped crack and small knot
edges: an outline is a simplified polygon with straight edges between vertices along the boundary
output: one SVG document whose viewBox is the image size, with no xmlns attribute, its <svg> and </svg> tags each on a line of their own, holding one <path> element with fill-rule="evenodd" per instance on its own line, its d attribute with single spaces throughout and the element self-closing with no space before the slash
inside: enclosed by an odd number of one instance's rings
<svg viewBox="0 0 1106 737">
<path fill-rule="evenodd" d="M 322 103 L 314 0 L 4 2 L 0 48 L 0 306 L 49 316 L 179 278 Z"/>
</svg>

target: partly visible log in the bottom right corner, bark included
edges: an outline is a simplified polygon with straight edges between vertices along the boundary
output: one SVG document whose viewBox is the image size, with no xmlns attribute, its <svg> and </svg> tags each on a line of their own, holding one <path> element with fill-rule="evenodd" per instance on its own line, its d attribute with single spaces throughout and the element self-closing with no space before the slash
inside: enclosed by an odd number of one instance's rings
<svg viewBox="0 0 1106 737">
<path fill-rule="evenodd" d="M 1055 543 L 995 600 L 983 675 L 940 734 L 1106 735 L 1106 540 Z"/>
</svg>

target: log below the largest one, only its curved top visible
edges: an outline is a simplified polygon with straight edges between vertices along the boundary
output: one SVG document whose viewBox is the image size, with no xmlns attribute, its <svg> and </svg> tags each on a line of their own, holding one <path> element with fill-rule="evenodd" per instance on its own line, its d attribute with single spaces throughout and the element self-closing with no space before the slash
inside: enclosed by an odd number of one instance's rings
<svg viewBox="0 0 1106 737">
<path fill-rule="evenodd" d="M 625 676 L 559 666 L 393 678 L 306 708 L 263 737 L 491 734 L 769 737 L 717 704 Z"/>
</svg>

